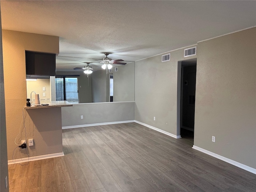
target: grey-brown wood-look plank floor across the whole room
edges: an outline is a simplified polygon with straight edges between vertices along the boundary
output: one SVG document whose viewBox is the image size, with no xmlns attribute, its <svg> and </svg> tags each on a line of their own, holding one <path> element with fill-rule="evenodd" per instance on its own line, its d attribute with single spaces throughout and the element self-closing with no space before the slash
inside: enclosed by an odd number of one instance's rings
<svg viewBox="0 0 256 192">
<path fill-rule="evenodd" d="M 9 169 L 10 192 L 255 192 L 256 175 L 136 123 L 62 131 L 65 156 Z"/>
</svg>

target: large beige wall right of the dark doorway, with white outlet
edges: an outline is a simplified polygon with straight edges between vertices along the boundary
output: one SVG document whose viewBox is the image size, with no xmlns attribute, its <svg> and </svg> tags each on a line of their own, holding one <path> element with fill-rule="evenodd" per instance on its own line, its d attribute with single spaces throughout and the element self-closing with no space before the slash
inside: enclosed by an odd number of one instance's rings
<svg viewBox="0 0 256 192">
<path fill-rule="evenodd" d="M 198 43 L 194 145 L 256 168 L 255 119 L 256 28 Z"/>
</svg>

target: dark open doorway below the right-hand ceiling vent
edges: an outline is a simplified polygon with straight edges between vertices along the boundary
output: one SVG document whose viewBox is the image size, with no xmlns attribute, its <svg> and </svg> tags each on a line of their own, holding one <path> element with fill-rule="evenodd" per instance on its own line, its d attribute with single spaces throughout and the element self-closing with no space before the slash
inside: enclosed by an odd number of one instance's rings
<svg viewBox="0 0 256 192">
<path fill-rule="evenodd" d="M 196 59 L 178 63 L 180 67 L 180 115 L 179 129 L 182 138 L 194 139 Z"/>
</svg>

